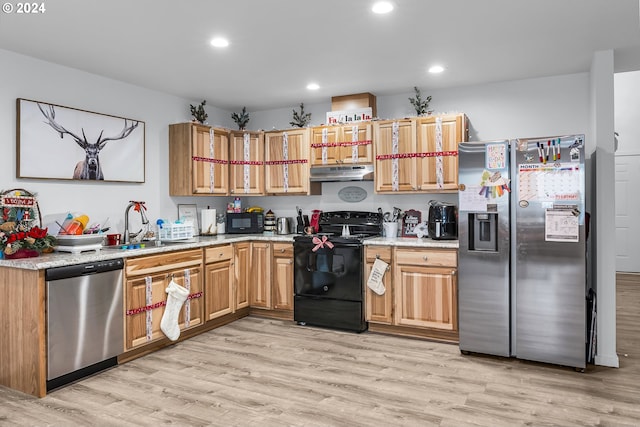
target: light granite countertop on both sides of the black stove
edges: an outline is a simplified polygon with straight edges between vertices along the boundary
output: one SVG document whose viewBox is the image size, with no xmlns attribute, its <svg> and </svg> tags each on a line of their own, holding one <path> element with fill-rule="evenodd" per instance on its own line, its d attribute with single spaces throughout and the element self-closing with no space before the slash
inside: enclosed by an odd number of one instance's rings
<svg viewBox="0 0 640 427">
<path fill-rule="evenodd" d="M 269 242 L 293 242 L 296 234 L 272 235 L 272 234 L 219 234 L 217 236 L 199 236 L 194 239 L 165 243 L 155 246 L 155 242 L 147 242 L 147 246 L 141 249 L 115 249 L 102 248 L 82 253 L 53 252 L 42 254 L 35 258 L 22 258 L 16 260 L 0 259 L 0 267 L 20 268 L 23 270 L 43 270 L 51 267 L 82 264 L 115 258 L 131 258 L 145 255 L 154 255 L 164 252 L 198 249 L 207 246 L 216 246 L 227 243 L 264 240 Z M 377 246 L 406 246 L 414 248 L 447 248 L 457 249 L 457 240 L 432 240 L 428 238 L 398 237 L 390 239 L 375 237 L 366 239 L 365 245 Z"/>
</svg>

